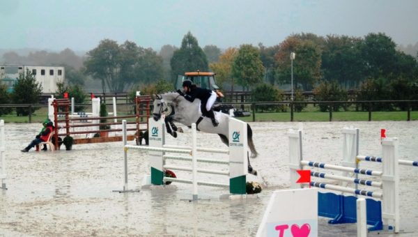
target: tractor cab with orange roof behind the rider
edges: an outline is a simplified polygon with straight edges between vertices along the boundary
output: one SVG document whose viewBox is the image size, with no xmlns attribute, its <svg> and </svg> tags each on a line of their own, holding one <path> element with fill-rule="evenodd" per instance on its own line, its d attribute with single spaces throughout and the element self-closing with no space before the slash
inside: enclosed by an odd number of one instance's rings
<svg viewBox="0 0 418 237">
<path fill-rule="evenodd" d="M 182 84 L 189 79 L 196 86 L 209 89 L 217 93 L 217 100 L 224 98 L 224 94 L 219 90 L 219 86 L 215 84 L 215 73 L 213 72 L 185 72 L 185 75 L 178 75 L 176 81 L 176 90 L 183 89 Z"/>
</svg>

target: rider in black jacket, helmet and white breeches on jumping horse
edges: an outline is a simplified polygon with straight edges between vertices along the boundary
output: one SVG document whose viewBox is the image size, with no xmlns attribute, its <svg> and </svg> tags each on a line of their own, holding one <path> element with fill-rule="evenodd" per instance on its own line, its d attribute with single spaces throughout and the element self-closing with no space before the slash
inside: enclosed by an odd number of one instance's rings
<svg viewBox="0 0 418 237">
<path fill-rule="evenodd" d="M 177 92 L 180 93 L 180 95 L 183 95 L 186 100 L 189 100 L 189 102 L 193 102 L 196 98 L 201 100 L 202 115 L 210 118 L 213 126 L 216 127 L 219 123 L 215 119 L 215 112 L 212 109 L 212 105 L 217 97 L 215 91 L 199 88 L 195 84 L 192 84 L 189 80 L 185 80 L 183 82 L 183 91 L 185 93 L 180 90 Z"/>
</svg>

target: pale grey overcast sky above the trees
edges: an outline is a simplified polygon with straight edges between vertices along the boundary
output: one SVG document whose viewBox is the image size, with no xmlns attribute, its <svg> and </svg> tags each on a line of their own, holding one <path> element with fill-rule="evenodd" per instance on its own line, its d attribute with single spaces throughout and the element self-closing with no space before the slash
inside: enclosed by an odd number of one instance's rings
<svg viewBox="0 0 418 237">
<path fill-rule="evenodd" d="M 191 31 L 199 45 L 279 44 L 291 33 L 418 42 L 418 0 L 0 0 L 0 48 L 90 50 L 131 40 L 157 51 Z"/>
</svg>

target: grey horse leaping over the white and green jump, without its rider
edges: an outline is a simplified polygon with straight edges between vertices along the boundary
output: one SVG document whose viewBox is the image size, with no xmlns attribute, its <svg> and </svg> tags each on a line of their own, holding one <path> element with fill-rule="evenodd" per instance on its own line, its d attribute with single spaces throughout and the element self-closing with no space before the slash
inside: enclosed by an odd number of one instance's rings
<svg viewBox="0 0 418 237">
<path fill-rule="evenodd" d="M 221 140 L 226 146 L 229 145 L 229 115 L 222 112 L 215 112 L 215 118 L 219 122 L 217 127 L 212 125 L 212 121 L 208 117 L 202 117 L 200 111 L 200 100 L 194 100 L 194 102 L 187 101 L 183 96 L 177 92 L 169 92 L 161 95 L 155 95 L 153 103 L 153 119 L 159 120 L 162 114 L 166 117 L 167 132 L 173 137 L 176 137 L 176 126 L 174 122 L 182 123 L 191 128 L 192 123 L 196 123 L 196 128 L 201 132 L 215 133 L 221 137 Z M 167 123 L 168 122 L 168 123 Z M 169 124 L 173 128 L 174 132 L 169 128 Z M 254 142 L 252 139 L 251 127 L 247 124 L 247 140 L 248 147 L 251 151 L 251 158 L 256 158 L 258 155 Z M 249 165 L 249 173 L 255 174 L 251 165 Z"/>
</svg>

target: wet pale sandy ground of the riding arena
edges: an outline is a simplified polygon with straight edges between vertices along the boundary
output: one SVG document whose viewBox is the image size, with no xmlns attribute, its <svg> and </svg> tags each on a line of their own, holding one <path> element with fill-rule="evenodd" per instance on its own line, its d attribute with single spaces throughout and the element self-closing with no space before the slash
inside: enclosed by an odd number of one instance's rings
<svg viewBox="0 0 418 237">
<path fill-rule="evenodd" d="M 386 128 L 388 137 L 400 140 L 400 158 L 418 160 L 417 121 L 303 123 L 304 158 L 340 164 L 341 128 L 346 125 L 360 128 L 360 154 L 380 155 L 380 128 Z M 121 142 L 76 145 L 73 151 L 21 153 L 39 127 L 6 124 L 9 178 L 8 190 L 0 191 L 0 236 L 255 236 L 271 192 L 289 186 L 286 131 L 298 124 L 251 123 L 260 153 L 251 165 L 260 175 L 247 179 L 267 186 L 261 194 L 224 200 L 219 195 L 228 190 L 199 187 L 201 200 L 197 202 L 182 200 L 191 197 L 191 186 L 181 183 L 164 190 L 112 192 L 123 188 Z M 189 137 L 185 129 L 178 139 L 168 137 L 167 143 L 185 144 Z M 217 135 L 198 133 L 198 139 L 201 146 L 224 146 Z M 148 158 L 146 153 L 129 151 L 128 159 L 130 188 L 135 188 L 149 173 Z M 373 163 L 362 167 L 381 169 Z M 405 232 L 397 236 L 418 236 L 418 168 L 400 166 L 400 171 L 401 229 Z M 190 177 L 187 172 L 176 174 Z M 208 177 L 203 181 L 226 182 L 215 175 L 202 176 Z M 326 221 L 320 218 L 320 236 L 355 236 L 355 224 Z"/>
</svg>

